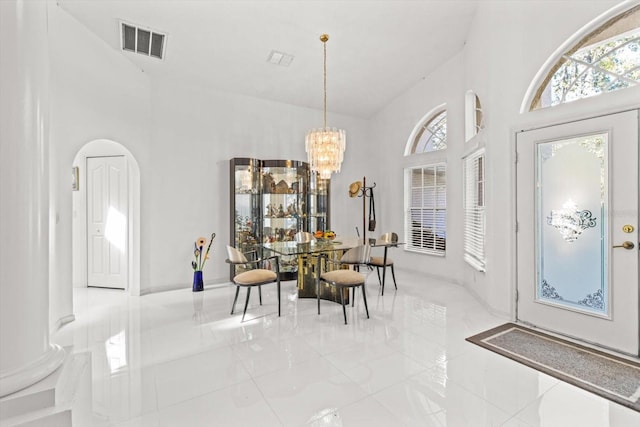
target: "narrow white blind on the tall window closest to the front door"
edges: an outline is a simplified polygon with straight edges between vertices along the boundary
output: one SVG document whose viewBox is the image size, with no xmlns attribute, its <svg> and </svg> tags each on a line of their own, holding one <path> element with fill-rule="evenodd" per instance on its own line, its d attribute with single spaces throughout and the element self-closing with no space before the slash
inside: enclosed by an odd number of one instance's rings
<svg viewBox="0 0 640 427">
<path fill-rule="evenodd" d="M 484 150 L 464 159 L 464 260 L 485 271 Z"/>
</svg>

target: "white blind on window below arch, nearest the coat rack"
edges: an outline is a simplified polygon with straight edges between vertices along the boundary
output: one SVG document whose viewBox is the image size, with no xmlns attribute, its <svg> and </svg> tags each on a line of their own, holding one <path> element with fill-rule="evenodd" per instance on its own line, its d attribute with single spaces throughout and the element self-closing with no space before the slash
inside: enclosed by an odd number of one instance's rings
<svg viewBox="0 0 640 427">
<path fill-rule="evenodd" d="M 447 241 L 447 166 L 405 170 L 405 241 L 410 251 L 444 255 Z"/>
</svg>

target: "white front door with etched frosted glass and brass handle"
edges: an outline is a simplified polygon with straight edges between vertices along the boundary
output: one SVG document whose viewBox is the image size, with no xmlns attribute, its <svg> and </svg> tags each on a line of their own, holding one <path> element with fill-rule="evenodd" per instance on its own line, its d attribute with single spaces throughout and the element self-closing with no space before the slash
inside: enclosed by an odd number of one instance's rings
<svg viewBox="0 0 640 427">
<path fill-rule="evenodd" d="M 638 111 L 517 134 L 518 321 L 639 354 L 638 142 Z"/>
</svg>

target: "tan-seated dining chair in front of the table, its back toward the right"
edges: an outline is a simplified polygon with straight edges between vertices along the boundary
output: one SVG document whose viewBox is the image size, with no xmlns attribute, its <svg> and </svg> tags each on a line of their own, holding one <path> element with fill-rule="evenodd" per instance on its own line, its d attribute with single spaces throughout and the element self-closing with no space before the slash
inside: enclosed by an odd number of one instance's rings
<svg viewBox="0 0 640 427">
<path fill-rule="evenodd" d="M 344 290 L 353 289 L 352 304 L 355 305 L 355 289 L 362 288 L 362 300 L 364 301 L 364 309 L 367 313 L 367 319 L 369 318 L 369 307 L 367 306 L 367 291 L 365 287 L 366 276 L 355 269 L 360 265 L 367 265 L 369 263 L 369 257 L 371 253 L 371 247 L 369 245 L 360 245 L 355 248 L 351 248 L 346 251 L 340 260 L 332 260 L 326 254 L 321 254 L 318 257 L 318 265 L 316 271 L 318 276 L 316 278 L 316 294 L 318 299 L 318 314 L 320 314 L 320 284 L 322 282 L 327 283 L 330 286 L 337 288 L 340 294 L 340 302 L 342 303 L 342 314 L 344 315 L 344 324 L 347 324 L 347 310 L 344 305 Z M 332 263 L 337 270 L 321 272 L 321 260 L 324 259 L 325 263 Z M 348 265 L 354 269 L 341 269 L 340 266 Z"/>
</svg>

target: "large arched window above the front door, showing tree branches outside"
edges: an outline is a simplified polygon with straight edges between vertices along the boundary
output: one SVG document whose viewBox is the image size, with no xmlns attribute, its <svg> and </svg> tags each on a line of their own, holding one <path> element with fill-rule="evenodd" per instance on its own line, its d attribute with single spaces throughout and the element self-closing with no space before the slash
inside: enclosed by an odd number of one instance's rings
<svg viewBox="0 0 640 427">
<path fill-rule="evenodd" d="M 530 111 L 640 83 L 640 6 L 582 33 L 561 55 L 556 54 L 559 59 L 547 68 L 531 98 Z"/>
</svg>

